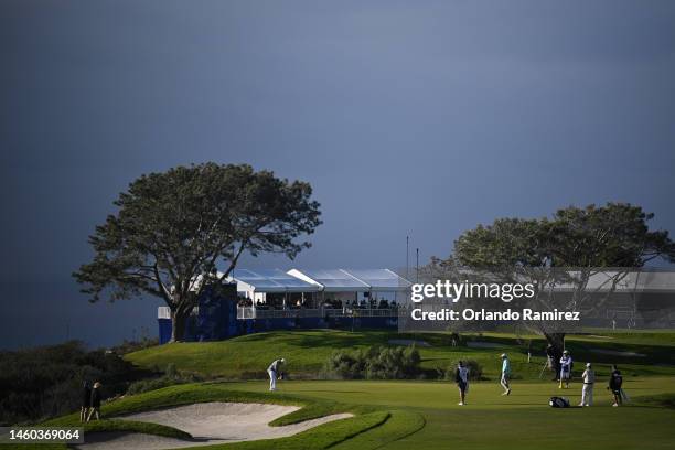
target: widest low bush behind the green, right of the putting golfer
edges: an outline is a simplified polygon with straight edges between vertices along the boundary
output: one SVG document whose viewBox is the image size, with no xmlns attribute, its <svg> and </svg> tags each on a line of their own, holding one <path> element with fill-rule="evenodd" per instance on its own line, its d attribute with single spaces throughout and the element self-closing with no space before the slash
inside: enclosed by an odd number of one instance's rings
<svg viewBox="0 0 675 450">
<path fill-rule="evenodd" d="M 420 374 L 419 352 L 413 346 L 372 346 L 356 352 L 334 352 L 323 366 L 326 377 L 340 379 L 403 379 Z"/>
</svg>

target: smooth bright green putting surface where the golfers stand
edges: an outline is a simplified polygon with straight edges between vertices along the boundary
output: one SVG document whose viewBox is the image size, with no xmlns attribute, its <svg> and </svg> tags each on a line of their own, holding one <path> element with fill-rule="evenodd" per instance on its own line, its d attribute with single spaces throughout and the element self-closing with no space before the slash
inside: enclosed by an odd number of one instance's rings
<svg viewBox="0 0 675 450">
<path fill-rule="evenodd" d="M 227 383 L 228 389 L 265 390 L 261 382 Z M 675 377 L 629 378 L 632 397 L 675 393 Z M 656 406 L 612 408 L 601 382 L 596 406 L 554 409 L 550 396 L 579 403 L 581 385 L 558 389 L 554 383 L 515 382 L 511 396 L 501 396 L 495 383 L 471 385 L 467 406 L 458 406 L 457 388 L 439 382 L 285 382 L 280 392 L 360 405 L 378 405 L 416 411 L 426 426 L 389 443 L 392 449 L 672 449 L 675 409 Z M 338 448 L 355 448 L 346 441 Z"/>
</svg>

